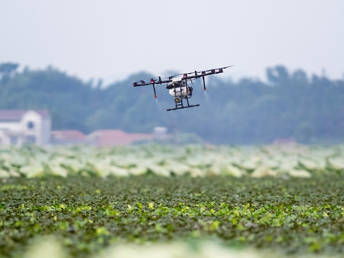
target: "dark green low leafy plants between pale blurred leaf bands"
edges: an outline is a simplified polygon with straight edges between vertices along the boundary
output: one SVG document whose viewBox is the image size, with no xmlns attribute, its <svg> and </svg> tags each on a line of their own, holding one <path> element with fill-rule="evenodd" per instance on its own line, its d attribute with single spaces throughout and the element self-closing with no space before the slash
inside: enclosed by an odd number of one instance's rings
<svg viewBox="0 0 344 258">
<path fill-rule="evenodd" d="M 344 179 L 231 176 L 43 177 L 0 183 L 0 253 L 54 236 L 67 254 L 123 243 L 222 245 L 284 254 L 343 254 Z"/>
</svg>

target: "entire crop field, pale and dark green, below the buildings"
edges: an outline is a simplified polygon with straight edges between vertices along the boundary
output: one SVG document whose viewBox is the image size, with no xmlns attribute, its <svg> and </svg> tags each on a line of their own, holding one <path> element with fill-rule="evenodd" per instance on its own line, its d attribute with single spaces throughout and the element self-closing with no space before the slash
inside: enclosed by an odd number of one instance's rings
<svg viewBox="0 0 344 258">
<path fill-rule="evenodd" d="M 0 150 L 0 256 L 344 255 L 344 146 Z"/>
</svg>

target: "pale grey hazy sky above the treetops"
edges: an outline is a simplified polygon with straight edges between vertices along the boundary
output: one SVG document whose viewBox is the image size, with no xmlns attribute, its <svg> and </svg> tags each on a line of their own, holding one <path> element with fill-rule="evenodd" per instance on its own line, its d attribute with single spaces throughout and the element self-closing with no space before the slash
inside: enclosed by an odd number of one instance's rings
<svg viewBox="0 0 344 258">
<path fill-rule="evenodd" d="M 106 83 L 232 64 L 221 76 L 342 79 L 343 14 L 344 0 L 0 0 L 0 62 Z"/>
</svg>

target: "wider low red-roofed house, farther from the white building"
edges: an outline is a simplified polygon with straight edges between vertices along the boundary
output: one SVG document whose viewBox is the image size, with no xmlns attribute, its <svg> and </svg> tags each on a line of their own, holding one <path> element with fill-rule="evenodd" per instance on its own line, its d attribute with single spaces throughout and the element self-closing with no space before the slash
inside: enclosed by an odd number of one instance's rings
<svg viewBox="0 0 344 258">
<path fill-rule="evenodd" d="M 121 130 L 97 130 L 87 135 L 88 142 L 97 146 L 127 145 L 153 139 L 153 134 L 132 134 Z"/>
</svg>

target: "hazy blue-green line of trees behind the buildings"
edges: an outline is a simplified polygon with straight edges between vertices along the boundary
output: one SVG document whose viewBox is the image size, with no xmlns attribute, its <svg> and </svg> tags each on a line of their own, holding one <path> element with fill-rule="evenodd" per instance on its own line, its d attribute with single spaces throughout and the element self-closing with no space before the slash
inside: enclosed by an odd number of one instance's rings
<svg viewBox="0 0 344 258">
<path fill-rule="evenodd" d="M 284 66 L 266 69 L 267 81 L 242 78 L 234 82 L 208 76 L 192 85 L 190 104 L 174 107 L 164 85 L 132 87 L 132 82 L 154 77 L 137 73 L 101 87 L 101 81 L 82 81 L 53 67 L 43 70 L 0 64 L 0 109 L 49 110 L 53 130 L 121 129 L 151 133 L 165 126 L 170 133 L 192 133 L 214 144 L 259 144 L 278 139 L 301 143 L 344 140 L 344 80 L 308 77 Z M 178 134 L 177 134 L 178 135 Z"/>
</svg>

